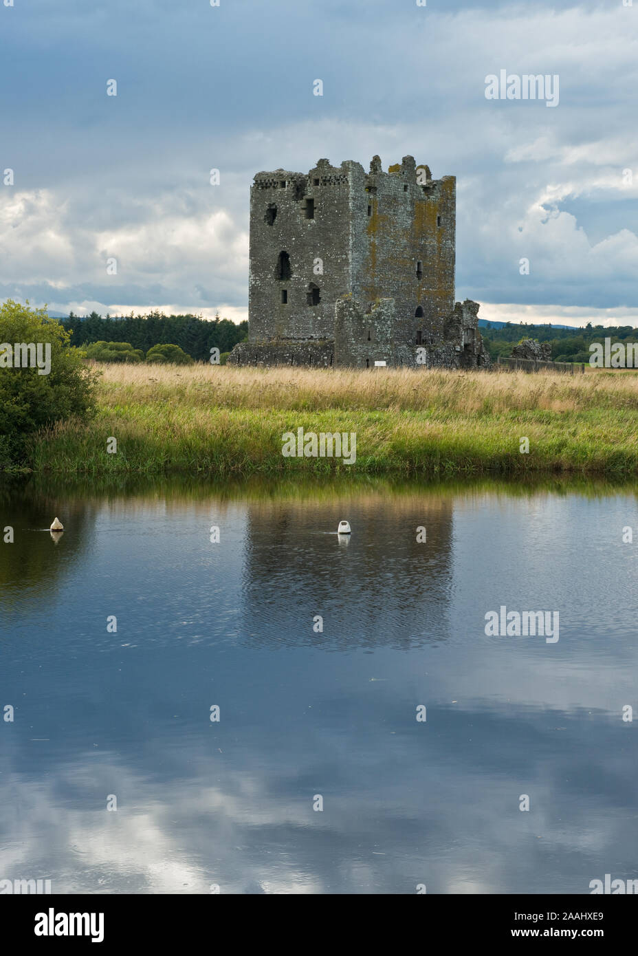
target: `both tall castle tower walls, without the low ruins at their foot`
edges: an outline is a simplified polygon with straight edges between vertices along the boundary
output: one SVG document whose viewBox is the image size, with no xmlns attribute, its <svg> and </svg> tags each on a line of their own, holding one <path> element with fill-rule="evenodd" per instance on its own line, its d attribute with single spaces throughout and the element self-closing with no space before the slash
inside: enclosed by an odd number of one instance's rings
<svg viewBox="0 0 638 956">
<path fill-rule="evenodd" d="M 319 160 L 276 169 L 250 191 L 248 312 L 253 341 L 327 338 L 341 295 L 393 298 L 397 337 L 442 334 L 454 307 L 456 179 L 405 156 L 370 172 Z M 284 253 L 284 268 L 280 255 Z M 418 315 L 417 315 L 418 311 Z"/>
</svg>

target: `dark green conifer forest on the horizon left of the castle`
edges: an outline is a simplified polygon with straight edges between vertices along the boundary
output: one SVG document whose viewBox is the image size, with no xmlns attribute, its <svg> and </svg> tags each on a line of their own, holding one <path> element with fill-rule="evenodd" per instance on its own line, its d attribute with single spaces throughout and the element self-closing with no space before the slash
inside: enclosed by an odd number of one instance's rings
<svg viewBox="0 0 638 956">
<path fill-rule="evenodd" d="M 146 354 L 154 345 L 170 343 L 179 345 L 196 361 L 208 361 L 210 350 L 218 348 L 221 353 L 230 352 L 237 342 L 248 335 L 247 321 L 236 325 L 228 318 L 204 319 L 198 315 L 163 315 L 150 312 L 148 315 L 124 315 L 102 318 L 96 312 L 79 318 L 71 313 L 60 323 L 73 332 L 71 344 L 88 345 L 92 342 L 130 342 L 134 349 Z"/>
</svg>

